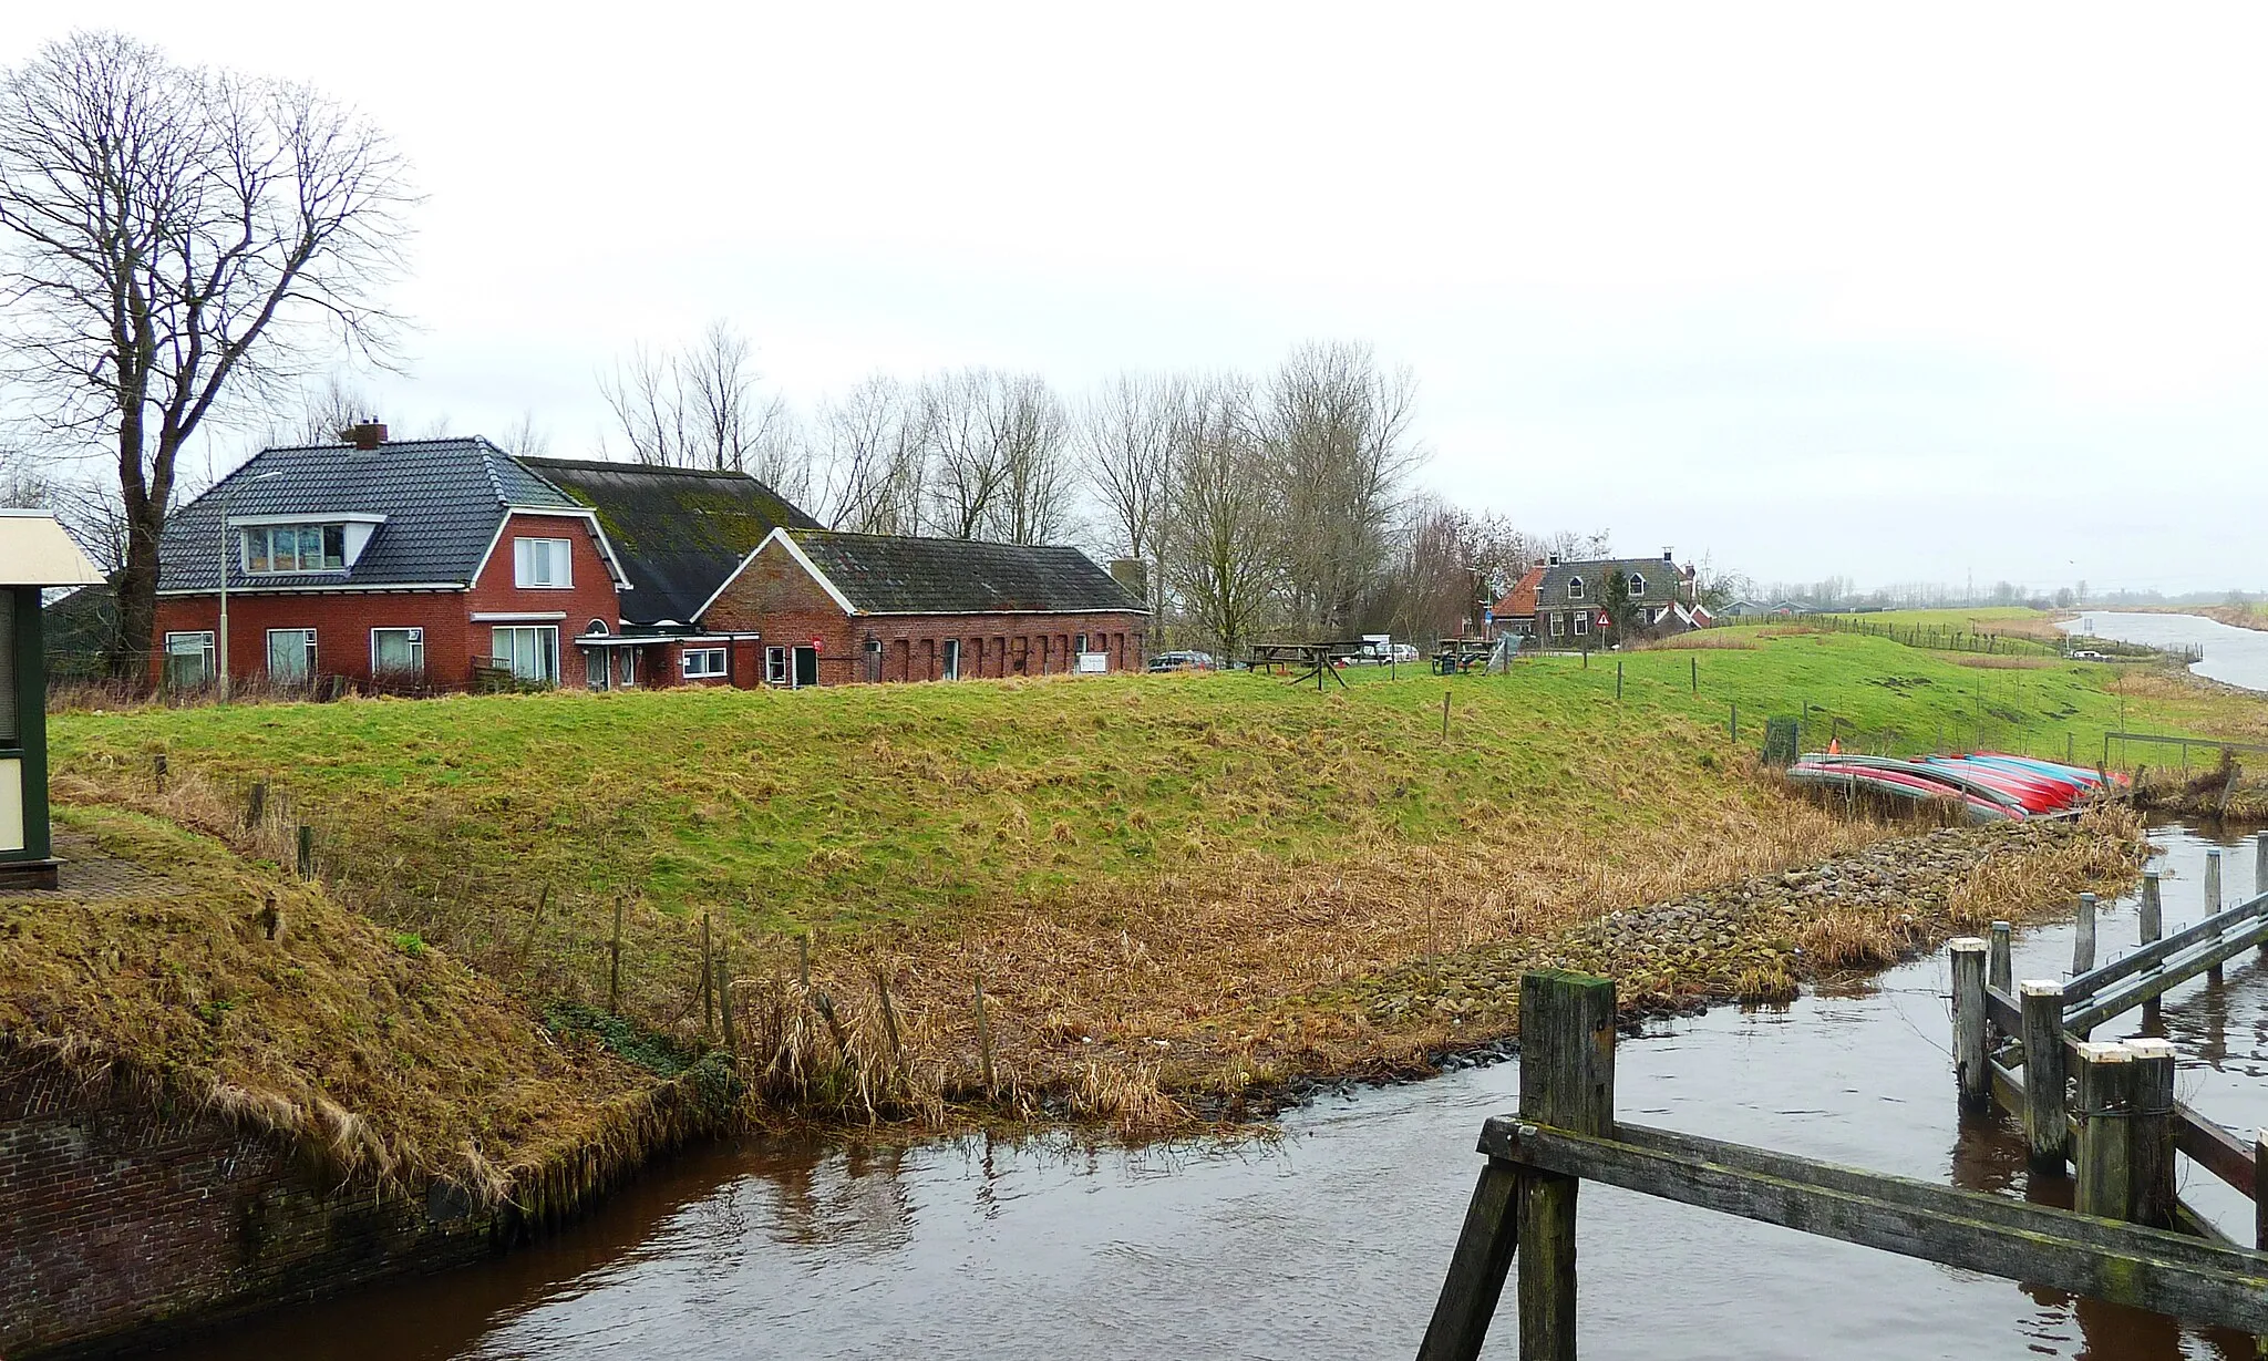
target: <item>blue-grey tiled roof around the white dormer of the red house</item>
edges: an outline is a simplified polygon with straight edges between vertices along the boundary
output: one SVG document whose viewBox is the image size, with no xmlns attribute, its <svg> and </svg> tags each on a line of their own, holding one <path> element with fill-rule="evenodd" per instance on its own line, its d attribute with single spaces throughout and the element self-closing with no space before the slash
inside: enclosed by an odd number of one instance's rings
<svg viewBox="0 0 2268 1361">
<path fill-rule="evenodd" d="M 272 474 L 272 476 L 270 476 Z M 469 583 L 506 506 L 581 510 L 565 492 L 481 438 L 261 449 L 166 519 L 159 590 L 215 590 L 220 515 L 386 515 L 349 572 L 245 576 L 229 549 L 229 590 L 277 585 Z"/>
</svg>

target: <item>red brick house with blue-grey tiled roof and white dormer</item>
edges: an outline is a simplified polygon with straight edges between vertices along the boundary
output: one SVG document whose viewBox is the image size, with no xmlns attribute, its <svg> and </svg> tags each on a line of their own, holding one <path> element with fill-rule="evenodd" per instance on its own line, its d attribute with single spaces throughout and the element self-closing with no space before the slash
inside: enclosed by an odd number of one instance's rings
<svg viewBox="0 0 2268 1361">
<path fill-rule="evenodd" d="M 152 678 L 227 656 L 231 683 L 578 685 L 562 640 L 619 626 L 628 590 L 596 515 L 488 440 L 352 433 L 263 449 L 168 517 Z"/>
</svg>

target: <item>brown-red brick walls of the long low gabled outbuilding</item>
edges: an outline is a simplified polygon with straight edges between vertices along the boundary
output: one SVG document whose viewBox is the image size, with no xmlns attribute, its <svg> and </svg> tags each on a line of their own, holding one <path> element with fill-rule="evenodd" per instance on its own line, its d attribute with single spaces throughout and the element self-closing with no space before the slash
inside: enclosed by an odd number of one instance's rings
<svg viewBox="0 0 2268 1361">
<path fill-rule="evenodd" d="M 1052 676 L 1086 651 L 1109 653 L 1109 669 L 1139 671 L 1148 615 L 846 615 L 785 549 L 771 544 L 726 585 L 701 619 L 733 633 L 762 633 L 762 646 L 819 644 L 819 683 L 937 681 L 946 640 L 962 644 L 962 676 Z M 869 651 L 880 644 L 880 660 Z"/>
</svg>

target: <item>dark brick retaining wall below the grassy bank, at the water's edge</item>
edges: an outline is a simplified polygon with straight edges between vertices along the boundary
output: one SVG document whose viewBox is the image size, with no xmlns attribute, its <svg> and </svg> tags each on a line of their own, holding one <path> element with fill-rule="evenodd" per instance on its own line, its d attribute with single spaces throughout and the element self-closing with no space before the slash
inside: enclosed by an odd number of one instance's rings
<svg viewBox="0 0 2268 1361">
<path fill-rule="evenodd" d="M 331 1193 L 268 1136 L 88 1100 L 54 1068 L 0 1068 L 0 1204 L 11 1361 L 154 1341 L 170 1320 L 327 1293 L 404 1254 L 445 1266 L 490 1250 L 483 1216 Z"/>
</svg>

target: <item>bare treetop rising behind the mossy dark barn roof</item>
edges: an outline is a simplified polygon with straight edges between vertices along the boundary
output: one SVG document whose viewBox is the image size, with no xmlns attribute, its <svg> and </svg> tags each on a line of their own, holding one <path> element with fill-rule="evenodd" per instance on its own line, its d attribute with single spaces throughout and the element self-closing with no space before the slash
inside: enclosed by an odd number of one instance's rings
<svg viewBox="0 0 2268 1361">
<path fill-rule="evenodd" d="M 789 438 L 787 404 L 762 395 L 760 379 L 748 340 L 730 322 L 712 322 L 701 340 L 678 352 L 635 345 L 599 379 L 599 392 L 637 463 L 771 472 L 801 483 L 807 458 L 801 440 Z"/>
</svg>

